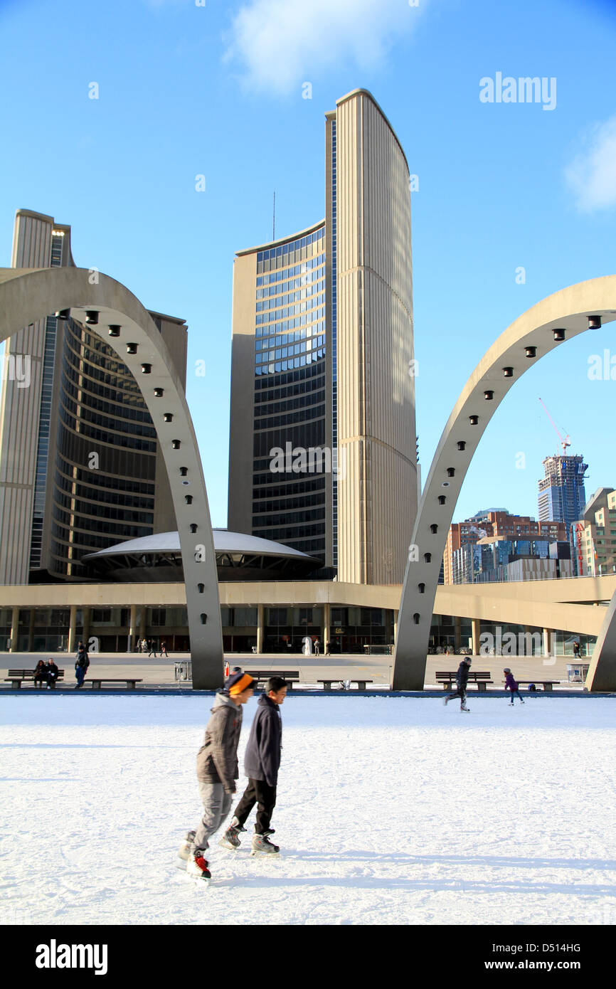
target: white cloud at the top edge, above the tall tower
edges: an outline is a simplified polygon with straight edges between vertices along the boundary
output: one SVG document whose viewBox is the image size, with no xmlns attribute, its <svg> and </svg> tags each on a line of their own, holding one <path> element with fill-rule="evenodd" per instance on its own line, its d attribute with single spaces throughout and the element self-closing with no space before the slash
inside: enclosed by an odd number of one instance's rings
<svg viewBox="0 0 616 989">
<path fill-rule="evenodd" d="M 225 60 L 239 64 L 248 88 L 288 93 L 349 61 L 379 65 L 427 2 L 248 0 L 233 18 Z"/>
</svg>

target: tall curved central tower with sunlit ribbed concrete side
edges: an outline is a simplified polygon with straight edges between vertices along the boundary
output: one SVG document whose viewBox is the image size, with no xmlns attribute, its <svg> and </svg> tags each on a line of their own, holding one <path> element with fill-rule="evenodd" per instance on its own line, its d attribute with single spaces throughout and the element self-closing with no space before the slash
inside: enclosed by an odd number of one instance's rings
<svg viewBox="0 0 616 989">
<path fill-rule="evenodd" d="M 229 528 L 339 581 L 401 583 L 417 510 L 409 174 L 366 90 L 325 115 L 325 220 L 237 252 L 232 334 Z"/>
</svg>

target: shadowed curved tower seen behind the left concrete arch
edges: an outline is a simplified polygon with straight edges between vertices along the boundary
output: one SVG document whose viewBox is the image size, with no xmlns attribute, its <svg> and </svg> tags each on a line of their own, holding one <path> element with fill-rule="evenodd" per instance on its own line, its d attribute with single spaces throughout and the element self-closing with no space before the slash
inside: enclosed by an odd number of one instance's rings
<svg viewBox="0 0 616 989">
<path fill-rule="evenodd" d="M 11 263 L 73 267 L 70 226 L 19 210 Z M 150 315 L 184 382 L 184 320 Z M 5 371 L 0 584 L 82 580 L 85 554 L 176 528 L 147 407 L 127 366 L 97 334 L 48 315 L 7 341 Z"/>
</svg>

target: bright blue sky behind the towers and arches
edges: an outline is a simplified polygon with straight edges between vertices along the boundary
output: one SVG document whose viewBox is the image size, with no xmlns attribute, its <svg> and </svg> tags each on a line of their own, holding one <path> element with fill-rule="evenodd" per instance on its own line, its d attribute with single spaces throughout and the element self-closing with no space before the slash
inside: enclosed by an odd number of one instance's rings
<svg viewBox="0 0 616 989">
<path fill-rule="evenodd" d="M 0 265 L 15 211 L 37 210 L 72 225 L 79 266 L 186 318 L 187 395 L 215 525 L 226 524 L 233 253 L 270 239 L 274 190 L 278 235 L 322 218 L 323 115 L 340 96 L 374 94 L 418 176 L 424 476 L 495 336 L 546 295 L 616 268 L 613 2 L 0 0 L 0 24 Z M 480 80 L 497 72 L 556 79 L 556 106 L 482 102 Z M 586 493 L 616 487 L 616 380 L 587 374 L 605 349 L 616 379 L 608 325 L 514 386 L 456 519 L 488 505 L 537 515 L 541 462 L 558 450 L 539 396 L 590 465 Z M 194 373 L 203 358 L 205 378 Z"/>
</svg>

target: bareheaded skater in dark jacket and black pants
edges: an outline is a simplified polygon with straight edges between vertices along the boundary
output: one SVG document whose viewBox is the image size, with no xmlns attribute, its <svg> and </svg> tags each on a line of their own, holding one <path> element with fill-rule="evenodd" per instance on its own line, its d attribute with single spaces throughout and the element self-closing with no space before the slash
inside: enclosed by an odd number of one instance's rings
<svg viewBox="0 0 616 989">
<path fill-rule="evenodd" d="M 224 832 L 219 845 L 226 849 L 237 849 L 237 837 L 245 831 L 244 824 L 250 811 L 257 804 L 257 820 L 254 826 L 251 853 L 277 854 L 278 845 L 273 845 L 269 836 L 274 834 L 270 827 L 272 813 L 276 806 L 278 769 L 282 753 L 283 723 L 280 705 L 287 696 L 287 680 L 282 676 L 270 676 L 267 693 L 261 694 L 257 713 L 250 726 L 250 735 L 244 755 L 244 773 L 248 785 L 237 804 L 231 823 Z"/>
</svg>

